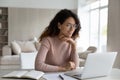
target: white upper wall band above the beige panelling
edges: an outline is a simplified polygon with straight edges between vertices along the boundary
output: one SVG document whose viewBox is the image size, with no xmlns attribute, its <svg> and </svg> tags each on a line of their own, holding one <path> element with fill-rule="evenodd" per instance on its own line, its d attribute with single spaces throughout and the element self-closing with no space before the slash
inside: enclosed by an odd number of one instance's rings
<svg viewBox="0 0 120 80">
<path fill-rule="evenodd" d="M 0 0 L 0 7 L 77 9 L 77 0 Z"/>
</svg>

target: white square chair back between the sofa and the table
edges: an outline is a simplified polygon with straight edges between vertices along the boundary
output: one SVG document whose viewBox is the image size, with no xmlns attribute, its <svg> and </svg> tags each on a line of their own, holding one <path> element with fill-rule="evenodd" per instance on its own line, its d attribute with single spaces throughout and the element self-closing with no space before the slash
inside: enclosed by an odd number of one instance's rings
<svg viewBox="0 0 120 80">
<path fill-rule="evenodd" d="M 34 69 L 36 55 L 37 51 L 31 53 L 21 53 L 20 54 L 21 69 Z"/>
</svg>

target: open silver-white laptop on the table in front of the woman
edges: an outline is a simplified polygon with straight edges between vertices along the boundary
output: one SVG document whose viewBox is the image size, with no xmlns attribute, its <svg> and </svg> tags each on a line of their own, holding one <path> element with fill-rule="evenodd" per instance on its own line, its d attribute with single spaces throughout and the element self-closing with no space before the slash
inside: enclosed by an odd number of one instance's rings
<svg viewBox="0 0 120 80">
<path fill-rule="evenodd" d="M 77 68 L 64 74 L 77 79 L 107 76 L 112 70 L 117 52 L 88 54 L 83 69 Z"/>
</svg>

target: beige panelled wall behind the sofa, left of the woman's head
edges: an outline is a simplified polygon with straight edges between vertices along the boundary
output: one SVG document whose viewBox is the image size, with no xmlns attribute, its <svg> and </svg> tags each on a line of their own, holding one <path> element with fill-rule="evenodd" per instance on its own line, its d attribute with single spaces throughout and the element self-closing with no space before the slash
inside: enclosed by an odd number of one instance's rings
<svg viewBox="0 0 120 80">
<path fill-rule="evenodd" d="M 9 43 L 13 40 L 39 38 L 60 9 L 9 8 Z M 76 10 L 74 10 L 76 13 Z"/>
</svg>

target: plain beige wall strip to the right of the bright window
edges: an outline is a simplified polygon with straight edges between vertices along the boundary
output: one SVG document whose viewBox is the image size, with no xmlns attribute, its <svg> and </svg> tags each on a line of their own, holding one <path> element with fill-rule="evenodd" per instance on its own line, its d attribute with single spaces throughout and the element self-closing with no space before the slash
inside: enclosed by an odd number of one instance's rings
<svg viewBox="0 0 120 80">
<path fill-rule="evenodd" d="M 120 68 L 120 0 L 109 0 L 108 6 L 108 51 L 117 51 L 115 66 Z"/>
</svg>

